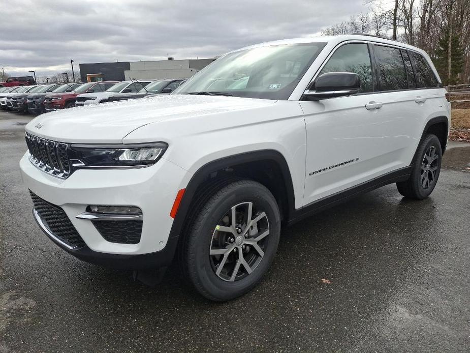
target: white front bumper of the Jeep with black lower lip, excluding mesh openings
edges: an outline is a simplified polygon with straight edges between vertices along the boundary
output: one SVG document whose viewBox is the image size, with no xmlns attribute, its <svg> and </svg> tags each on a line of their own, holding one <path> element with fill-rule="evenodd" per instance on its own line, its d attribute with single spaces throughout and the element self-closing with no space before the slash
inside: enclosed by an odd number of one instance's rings
<svg viewBox="0 0 470 353">
<path fill-rule="evenodd" d="M 162 158 L 140 169 L 81 169 L 64 180 L 38 169 L 29 161 L 28 153 L 21 159 L 20 168 L 26 187 L 64 210 L 85 243 L 70 249 L 41 226 L 62 249 L 82 260 L 115 268 L 151 268 L 171 262 L 178 237 L 169 238 L 173 224 L 170 211 L 176 193 L 190 180 L 186 170 Z M 143 214 L 140 242 L 108 242 L 90 220 L 76 218 L 93 204 L 139 207 Z"/>
</svg>

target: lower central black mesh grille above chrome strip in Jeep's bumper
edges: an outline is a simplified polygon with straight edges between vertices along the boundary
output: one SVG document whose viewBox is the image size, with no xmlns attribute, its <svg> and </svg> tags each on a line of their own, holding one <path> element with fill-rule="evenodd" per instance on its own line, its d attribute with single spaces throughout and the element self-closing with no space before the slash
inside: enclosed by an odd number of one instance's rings
<svg viewBox="0 0 470 353">
<path fill-rule="evenodd" d="M 43 200 L 31 190 L 29 190 L 29 194 L 33 200 L 35 211 L 54 237 L 72 248 L 85 246 L 85 242 L 64 210 L 55 204 Z"/>
</svg>

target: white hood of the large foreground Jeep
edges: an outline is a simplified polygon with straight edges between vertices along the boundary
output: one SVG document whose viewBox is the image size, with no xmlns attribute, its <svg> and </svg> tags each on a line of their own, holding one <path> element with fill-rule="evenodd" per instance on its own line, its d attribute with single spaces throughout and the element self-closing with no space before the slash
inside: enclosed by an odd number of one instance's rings
<svg viewBox="0 0 470 353">
<path fill-rule="evenodd" d="M 163 95 L 53 111 L 30 121 L 26 131 L 61 142 L 121 143 L 130 132 L 147 124 L 253 109 L 274 102 L 224 96 Z"/>
</svg>

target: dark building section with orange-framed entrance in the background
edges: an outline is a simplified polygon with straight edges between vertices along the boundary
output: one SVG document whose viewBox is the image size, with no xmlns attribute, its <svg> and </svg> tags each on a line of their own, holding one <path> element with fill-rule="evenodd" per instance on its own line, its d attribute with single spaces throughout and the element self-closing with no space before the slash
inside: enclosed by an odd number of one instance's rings
<svg viewBox="0 0 470 353">
<path fill-rule="evenodd" d="M 124 81 L 124 71 L 131 70 L 129 62 L 79 64 L 82 82 Z"/>
</svg>

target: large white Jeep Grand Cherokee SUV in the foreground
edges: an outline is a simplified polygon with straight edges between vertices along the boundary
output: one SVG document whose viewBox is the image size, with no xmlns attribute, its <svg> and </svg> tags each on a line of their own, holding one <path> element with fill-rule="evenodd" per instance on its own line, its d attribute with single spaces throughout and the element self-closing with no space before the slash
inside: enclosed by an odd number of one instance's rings
<svg viewBox="0 0 470 353">
<path fill-rule="evenodd" d="M 262 279 L 281 224 L 390 183 L 427 197 L 451 119 L 424 51 L 364 35 L 235 50 L 137 103 L 26 126 L 34 217 L 65 251 L 137 277 L 178 254 L 215 301 Z"/>
</svg>

